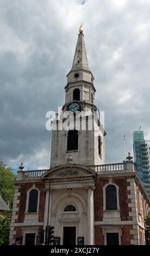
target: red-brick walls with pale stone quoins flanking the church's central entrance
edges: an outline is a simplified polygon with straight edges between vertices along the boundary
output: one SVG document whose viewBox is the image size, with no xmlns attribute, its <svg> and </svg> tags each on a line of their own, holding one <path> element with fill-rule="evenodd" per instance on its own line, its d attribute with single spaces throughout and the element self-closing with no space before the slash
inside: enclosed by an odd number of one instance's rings
<svg viewBox="0 0 150 256">
<path fill-rule="evenodd" d="M 149 201 L 138 180 L 138 176 L 134 174 L 133 177 L 129 178 L 127 175 L 105 175 L 104 177 L 103 175 L 98 175 L 95 176 L 94 182 L 95 190 L 93 191 L 93 202 L 95 214 L 95 245 L 107 244 L 107 232 L 118 233 L 121 245 L 145 245 L 144 222 L 145 216 L 148 213 Z M 118 188 L 118 210 L 116 211 L 104 210 L 104 200 L 106 200 L 105 187 L 110 184 L 116 185 Z M 36 245 L 40 244 L 40 230 L 43 229 L 47 213 L 47 208 L 45 209 L 47 205 L 46 186 L 45 180 L 41 180 L 40 182 L 35 182 L 35 180 L 33 182 L 28 182 L 28 180 L 26 180 L 26 182 L 23 183 L 20 181 L 19 185 L 17 181 L 10 228 L 11 245 L 15 244 L 16 237 L 23 237 L 24 243 L 26 233 L 33 233 L 34 230 L 36 236 L 35 243 Z M 39 191 L 39 208 L 37 214 L 29 214 L 26 206 L 27 195 L 29 194 L 28 191 L 33 188 L 37 188 Z M 52 190 L 52 193 L 54 193 L 54 191 L 55 190 Z M 73 191 L 80 193 L 80 190 L 73 189 Z M 81 193 L 80 196 L 85 198 L 83 193 Z M 58 197 L 59 196 L 55 197 L 54 203 L 55 200 L 58 200 Z M 53 207 L 51 210 L 52 209 Z M 107 217 L 108 214 L 110 216 L 109 218 Z M 34 215 L 35 218 L 33 218 Z M 52 211 L 51 217 L 53 218 L 53 216 L 54 213 Z"/>
</svg>

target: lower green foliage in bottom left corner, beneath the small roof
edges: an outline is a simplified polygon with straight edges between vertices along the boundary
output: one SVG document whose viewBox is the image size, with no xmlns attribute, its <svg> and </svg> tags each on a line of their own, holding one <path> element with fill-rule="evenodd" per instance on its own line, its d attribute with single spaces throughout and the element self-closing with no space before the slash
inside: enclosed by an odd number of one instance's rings
<svg viewBox="0 0 150 256">
<path fill-rule="evenodd" d="M 5 211 L 0 218 L 0 245 L 9 245 L 11 213 L 11 210 Z"/>
</svg>

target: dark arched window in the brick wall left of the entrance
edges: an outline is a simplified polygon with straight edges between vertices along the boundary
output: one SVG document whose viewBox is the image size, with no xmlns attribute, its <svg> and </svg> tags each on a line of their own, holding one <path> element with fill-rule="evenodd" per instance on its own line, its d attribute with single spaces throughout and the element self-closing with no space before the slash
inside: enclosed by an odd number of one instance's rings
<svg viewBox="0 0 150 256">
<path fill-rule="evenodd" d="M 29 193 L 28 212 L 37 212 L 38 191 L 31 190 Z"/>
</svg>

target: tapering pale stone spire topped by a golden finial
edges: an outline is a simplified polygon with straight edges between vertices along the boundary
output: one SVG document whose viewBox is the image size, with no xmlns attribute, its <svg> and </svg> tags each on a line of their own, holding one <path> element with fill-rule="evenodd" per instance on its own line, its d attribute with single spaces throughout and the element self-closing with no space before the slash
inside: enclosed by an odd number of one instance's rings
<svg viewBox="0 0 150 256">
<path fill-rule="evenodd" d="M 86 48 L 84 43 L 84 34 L 82 25 L 79 27 L 78 41 L 76 51 L 74 53 L 72 69 L 87 69 L 89 70 Z"/>
</svg>

